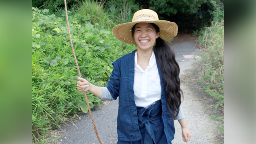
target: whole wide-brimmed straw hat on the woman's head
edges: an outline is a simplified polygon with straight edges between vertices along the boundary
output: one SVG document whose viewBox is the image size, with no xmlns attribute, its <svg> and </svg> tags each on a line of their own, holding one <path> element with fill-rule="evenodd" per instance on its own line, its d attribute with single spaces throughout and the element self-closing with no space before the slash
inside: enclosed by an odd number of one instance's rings
<svg viewBox="0 0 256 144">
<path fill-rule="evenodd" d="M 134 13 L 132 22 L 116 25 L 113 28 L 113 34 L 118 40 L 121 40 L 122 42 L 128 44 L 136 44 L 132 38 L 132 27 L 140 22 L 156 24 L 160 29 L 159 37 L 164 41 L 168 41 L 174 38 L 178 33 L 178 26 L 174 22 L 159 20 L 157 13 L 153 10 L 142 9 Z"/>
</svg>

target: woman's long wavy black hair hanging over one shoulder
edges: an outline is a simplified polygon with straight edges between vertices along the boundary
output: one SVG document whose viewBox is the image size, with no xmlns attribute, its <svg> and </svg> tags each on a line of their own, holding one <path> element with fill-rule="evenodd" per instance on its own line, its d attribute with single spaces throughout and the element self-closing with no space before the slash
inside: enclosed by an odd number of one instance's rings
<svg viewBox="0 0 256 144">
<path fill-rule="evenodd" d="M 150 24 L 154 26 L 156 32 L 160 32 L 156 24 Z M 134 36 L 134 27 L 135 25 L 132 27 L 132 36 Z M 180 67 L 175 60 L 173 50 L 162 38 L 158 37 L 156 39 L 153 50 L 164 78 L 167 106 L 172 116 L 176 118 L 180 111 L 181 95 L 183 96 L 180 89 Z"/>
</svg>

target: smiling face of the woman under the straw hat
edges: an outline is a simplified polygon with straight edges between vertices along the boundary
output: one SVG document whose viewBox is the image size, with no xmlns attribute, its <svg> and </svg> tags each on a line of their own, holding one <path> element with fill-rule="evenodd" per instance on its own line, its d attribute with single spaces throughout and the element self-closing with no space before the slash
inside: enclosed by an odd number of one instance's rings
<svg viewBox="0 0 256 144">
<path fill-rule="evenodd" d="M 152 50 L 158 36 L 152 24 L 138 23 L 134 26 L 134 40 L 138 50 Z"/>
</svg>

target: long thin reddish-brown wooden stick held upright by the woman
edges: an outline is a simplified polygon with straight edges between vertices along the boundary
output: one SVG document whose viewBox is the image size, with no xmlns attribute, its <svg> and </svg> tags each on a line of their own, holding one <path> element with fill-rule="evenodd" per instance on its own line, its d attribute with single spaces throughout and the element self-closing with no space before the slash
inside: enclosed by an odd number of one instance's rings
<svg viewBox="0 0 256 144">
<path fill-rule="evenodd" d="M 70 44 L 71 44 L 73 56 L 74 56 L 75 61 L 76 61 L 76 68 L 77 68 L 77 70 L 78 70 L 79 77 L 82 78 L 82 77 L 81 77 L 80 70 L 79 70 L 79 67 L 78 67 L 78 63 L 77 63 L 77 60 L 76 60 L 76 54 L 75 54 L 75 52 L 74 52 L 72 39 L 71 39 L 70 28 L 69 28 L 69 22 L 68 22 L 68 11 L 67 11 L 67 2 L 66 2 L 66 0 L 64 0 L 64 5 L 65 5 L 65 12 L 66 12 L 66 20 L 67 20 L 67 24 L 68 24 L 69 40 L 70 40 Z M 94 124 L 94 120 L 93 120 L 93 118 L 92 118 L 92 112 L 91 112 L 90 105 L 89 105 L 89 102 L 88 102 L 88 99 L 87 99 L 87 96 L 86 96 L 86 92 L 84 92 L 84 98 L 85 98 L 85 100 L 86 100 L 86 104 L 87 104 L 88 111 L 89 111 L 90 116 L 91 116 L 91 119 L 92 119 L 92 124 L 93 124 L 94 130 L 95 130 L 96 136 L 97 136 L 97 138 L 98 138 L 100 144 L 102 144 L 101 141 L 100 141 L 100 137 L 99 137 L 99 135 L 98 135 L 98 132 L 97 132 L 97 130 L 96 130 L 96 126 L 95 126 L 95 124 Z"/>
</svg>

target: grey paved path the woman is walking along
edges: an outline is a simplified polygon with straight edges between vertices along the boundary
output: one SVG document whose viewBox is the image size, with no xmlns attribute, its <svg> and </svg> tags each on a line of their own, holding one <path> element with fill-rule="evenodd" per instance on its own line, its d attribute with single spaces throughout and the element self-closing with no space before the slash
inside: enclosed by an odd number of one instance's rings
<svg viewBox="0 0 256 144">
<path fill-rule="evenodd" d="M 194 54 L 196 40 L 194 36 L 181 34 L 174 41 L 172 49 L 176 53 L 176 60 L 180 65 L 181 89 L 184 93 L 182 110 L 185 119 L 192 133 L 190 144 L 224 144 L 224 134 L 217 126 L 221 123 L 211 119 L 211 114 L 222 117 L 223 112 L 216 110 L 216 101 L 199 87 L 200 65 L 198 60 L 185 59 L 183 55 Z M 111 101 L 103 105 L 100 110 L 93 110 L 92 115 L 98 130 L 102 144 L 116 144 L 116 118 L 118 101 Z M 74 124 L 62 125 L 62 137 L 58 140 L 61 144 L 99 144 L 89 114 L 80 114 Z M 181 128 L 178 121 L 175 121 L 175 138 L 172 144 L 182 144 Z"/>
</svg>

